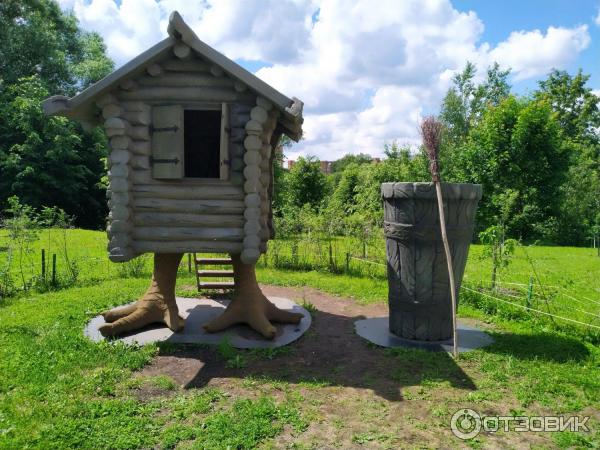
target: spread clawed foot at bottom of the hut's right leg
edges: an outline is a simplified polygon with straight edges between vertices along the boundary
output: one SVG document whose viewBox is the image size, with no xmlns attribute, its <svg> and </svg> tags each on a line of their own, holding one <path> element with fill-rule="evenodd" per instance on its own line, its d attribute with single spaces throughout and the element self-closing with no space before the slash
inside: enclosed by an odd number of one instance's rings
<svg viewBox="0 0 600 450">
<path fill-rule="evenodd" d="M 264 295 L 234 298 L 225 312 L 216 319 L 203 325 L 209 333 L 222 331 L 238 323 L 245 323 L 267 339 L 273 339 L 277 328 L 271 321 L 279 323 L 300 323 L 302 314 L 279 309 Z"/>
</svg>

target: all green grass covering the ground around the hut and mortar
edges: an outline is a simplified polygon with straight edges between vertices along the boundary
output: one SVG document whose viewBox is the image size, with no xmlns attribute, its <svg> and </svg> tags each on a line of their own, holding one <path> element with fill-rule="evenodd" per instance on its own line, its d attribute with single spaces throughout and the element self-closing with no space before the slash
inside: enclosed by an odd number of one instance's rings
<svg viewBox="0 0 600 450">
<path fill-rule="evenodd" d="M 35 243 L 35 252 L 42 247 L 56 249 L 52 247 L 53 233 L 60 231 L 50 232 L 49 240 L 45 233 Z M 157 354 L 157 346 L 97 344 L 84 338 L 81 330 L 99 311 L 142 294 L 149 265 L 139 278 L 120 278 L 124 275 L 117 265 L 106 259 L 103 233 L 73 230 L 68 242 L 69 255 L 80 267 L 72 287 L 30 290 L 0 302 L 0 449 L 255 448 L 268 446 L 283 433 L 298 436 L 298 448 L 303 448 L 303 433 L 321 420 L 321 392 L 333 389 L 335 381 L 304 380 L 291 388 L 282 379 L 248 378 L 243 385 L 254 395 L 247 398 L 208 387 L 182 390 L 166 376 L 140 381 L 136 371 Z M 5 246 L 6 242 L 0 242 L 0 247 Z M 527 251 L 549 301 L 565 302 L 561 292 L 576 299 L 600 297 L 600 258 L 591 250 L 534 247 Z M 489 263 L 478 257 L 480 252 L 480 247 L 473 246 L 466 271 L 471 286 L 489 278 Z M 29 255 L 33 262 L 24 266 L 29 267 L 29 275 L 39 268 L 34 261 L 37 254 Z M 2 257 L 0 252 L 0 264 Z M 520 250 L 509 270 L 501 274 L 501 281 L 526 283 L 532 270 Z M 16 276 L 18 280 L 19 274 Z M 258 276 L 263 283 L 314 287 L 365 304 L 383 302 L 387 297 L 387 283 L 379 276 L 349 277 L 271 266 L 261 266 Z M 190 295 L 185 286 L 194 283 L 195 277 L 182 267 L 179 292 Z M 564 307 L 575 305 L 598 311 L 593 301 L 564 303 L 563 309 L 556 310 L 566 314 L 570 310 Z M 433 404 L 429 419 L 417 422 L 423 432 L 447 429 L 449 416 L 464 402 L 484 411 L 506 405 L 505 413 L 510 413 L 510 408 L 522 414 L 600 410 L 600 349 L 580 328 L 557 327 L 545 319 L 523 316 L 516 309 L 500 309 L 476 294 L 463 296 L 460 315 L 493 322 L 495 344 L 465 354 L 457 363 L 445 354 L 385 352 L 390 360 L 390 380 L 405 386 L 405 400 Z M 231 369 L 243 369 L 255 360 L 293 351 L 293 347 L 239 351 L 223 344 L 218 354 Z M 466 378 L 473 380 L 476 389 L 460 391 L 460 398 L 445 397 L 452 391 L 448 380 L 461 379 L 463 374 L 468 374 Z M 137 398 L 134 393 L 143 383 L 164 394 Z M 303 402 L 299 390 L 312 400 Z M 503 403 L 507 399 L 512 403 Z M 365 447 L 386 445 L 392 433 L 377 428 L 344 432 L 350 442 Z M 552 439 L 561 448 L 600 445 L 597 422 L 592 433 L 560 433 Z M 469 444 L 485 446 L 485 441 L 485 436 L 480 436 Z"/>
</svg>

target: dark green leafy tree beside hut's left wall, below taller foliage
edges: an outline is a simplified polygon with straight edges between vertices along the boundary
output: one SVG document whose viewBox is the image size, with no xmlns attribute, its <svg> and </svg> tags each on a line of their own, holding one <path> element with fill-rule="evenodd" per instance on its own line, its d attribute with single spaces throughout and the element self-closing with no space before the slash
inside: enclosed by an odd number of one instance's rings
<svg viewBox="0 0 600 450">
<path fill-rule="evenodd" d="M 38 209 L 57 206 L 76 215 L 79 226 L 102 227 L 106 138 L 65 117 L 45 116 L 41 101 L 48 95 L 39 76 L 0 93 L 0 198 L 17 195 Z"/>
</svg>

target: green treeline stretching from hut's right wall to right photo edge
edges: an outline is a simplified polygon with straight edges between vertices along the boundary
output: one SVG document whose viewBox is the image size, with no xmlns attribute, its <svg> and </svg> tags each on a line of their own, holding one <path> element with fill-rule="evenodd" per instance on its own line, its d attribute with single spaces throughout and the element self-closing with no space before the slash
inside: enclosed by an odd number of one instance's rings
<svg viewBox="0 0 600 450">
<path fill-rule="evenodd" d="M 589 76 L 553 70 L 525 96 L 497 64 L 476 82 L 467 63 L 441 105 L 443 179 L 480 183 L 478 231 L 498 227 L 525 242 L 584 245 L 600 233 L 600 98 Z M 379 187 L 429 181 L 426 157 L 397 143 L 385 158 L 348 154 L 324 175 L 314 157 L 277 173 L 280 233 L 361 237 L 382 221 Z"/>
</svg>

